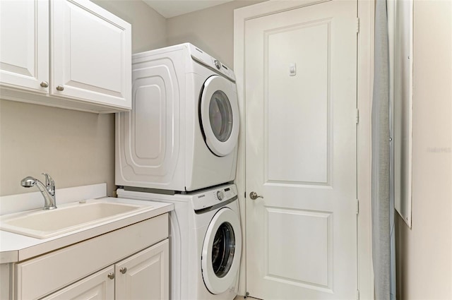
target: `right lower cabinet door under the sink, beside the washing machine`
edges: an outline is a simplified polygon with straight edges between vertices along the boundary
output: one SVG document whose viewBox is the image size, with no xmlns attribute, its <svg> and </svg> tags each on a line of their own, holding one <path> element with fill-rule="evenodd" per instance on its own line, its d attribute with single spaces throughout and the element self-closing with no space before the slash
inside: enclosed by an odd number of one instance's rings
<svg viewBox="0 0 452 300">
<path fill-rule="evenodd" d="M 168 239 L 115 265 L 116 299 L 169 299 Z"/>
</svg>

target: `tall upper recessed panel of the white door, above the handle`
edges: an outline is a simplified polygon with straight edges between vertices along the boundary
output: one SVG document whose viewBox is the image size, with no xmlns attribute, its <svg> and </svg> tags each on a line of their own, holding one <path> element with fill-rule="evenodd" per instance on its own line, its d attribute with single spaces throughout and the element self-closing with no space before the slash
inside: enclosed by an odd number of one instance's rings
<svg viewBox="0 0 452 300">
<path fill-rule="evenodd" d="M 264 124 L 270 123 L 264 134 L 266 139 L 264 151 L 268 149 L 264 155 L 267 157 L 264 165 L 267 180 L 331 186 L 331 18 L 309 20 L 273 30 L 264 30 L 264 32 L 263 85 L 266 89 L 263 99 L 266 109 Z M 284 43 L 284 38 L 292 40 L 307 37 L 316 42 L 304 45 L 302 53 L 296 55 L 294 52 L 297 52 L 297 49 L 290 49 L 290 47 L 283 47 L 283 53 L 281 52 L 280 45 Z M 316 47 L 316 45 L 318 46 Z M 303 56 L 311 56 L 314 53 L 319 55 L 319 52 L 322 54 L 321 59 L 315 61 L 302 59 Z M 287 76 L 287 69 L 281 68 L 278 64 L 280 56 L 297 56 L 300 59 L 297 76 L 303 76 L 302 81 L 305 84 L 300 86 L 293 80 L 290 93 L 287 93 L 285 88 L 268 90 L 270 81 L 284 80 L 284 77 Z M 289 65 L 290 60 L 287 61 L 286 66 Z M 296 64 L 292 65 L 297 68 Z M 323 84 L 315 86 L 316 80 L 321 80 Z M 282 109 L 284 105 L 281 104 L 285 102 L 291 104 L 293 101 L 290 95 L 286 95 L 293 92 L 309 95 L 309 99 L 299 99 L 294 110 Z M 321 107 L 319 107 L 319 98 L 323 100 Z M 276 101 L 271 102 L 270 99 Z M 284 114 L 285 120 L 289 119 L 291 127 L 283 127 L 278 120 L 269 119 L 269 112 Z M 283 131 L 285 131 L 284 135 L 281 134 Z M 285 136 L 292 136 L 292 138 L 287 140 Z M 270 143 L 270 140 L 273 142 Z M 292 163 L 287 164 L 287 157 L 292 157 Z M 301 160 L 299 160 L 300 158 Z M 276 161 L 272 163 L 270 159 Z M 301 175 L 299 180 L 290 180 L 294 179 L 294 176 L 297 176 L 297 172 L 300 171 L 296 167 L 297 165 L 307 166 L 304 169 L 306 171 L 299 174 Z M 282 174 L 275 174 L 282 169 L 284 169 Z M 271 176 L 272 174 L 273 176 Z"/>
</svg>

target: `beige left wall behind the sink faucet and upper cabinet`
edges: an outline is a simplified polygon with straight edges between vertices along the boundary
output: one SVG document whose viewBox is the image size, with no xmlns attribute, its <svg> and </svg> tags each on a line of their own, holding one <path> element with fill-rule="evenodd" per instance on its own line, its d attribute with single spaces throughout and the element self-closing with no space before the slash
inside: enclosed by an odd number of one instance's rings
<svg viewBox="0 0 452 300">
<path fill-rule="evenodd" d="M 141 1 L 94 1 L 132 24 L 133 52 L 164 47 L 166 20 Z M 1 99 L 1 95 L 0 95 Z M 0 100 L 0 196 L 36 191 L 20 179 L 49 173 L 57 188 L 114 186 L 114 114 Z"/>
</svg>

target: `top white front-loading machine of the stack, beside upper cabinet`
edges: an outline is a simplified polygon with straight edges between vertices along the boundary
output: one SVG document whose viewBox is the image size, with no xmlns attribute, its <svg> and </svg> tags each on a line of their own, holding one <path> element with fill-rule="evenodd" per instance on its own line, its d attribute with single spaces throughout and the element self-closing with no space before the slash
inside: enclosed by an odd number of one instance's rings
<svg viewBox="0 0 452 300">
<path fill-rule="evenodd" d="M 116 115 L 117 186 L 194 191 L 233 181 L 233 71 L 186 43 L 134 54 L 132 77 L 132 110 Z"/>
</svg>

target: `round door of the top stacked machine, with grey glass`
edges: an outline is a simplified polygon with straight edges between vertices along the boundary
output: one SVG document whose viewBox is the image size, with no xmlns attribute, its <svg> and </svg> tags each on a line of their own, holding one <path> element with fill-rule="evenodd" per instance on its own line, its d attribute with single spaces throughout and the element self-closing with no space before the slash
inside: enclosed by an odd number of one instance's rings
<svg viewBox="0 0 452 300">
<path fill-rule="evenodd" d="M 239 138 L 239 105 L 234 86 L 226 78 L 210 76 L 201 95 L 201 130 L 208 148 L 217 156 L 230 154 Z"/>
</svg>

